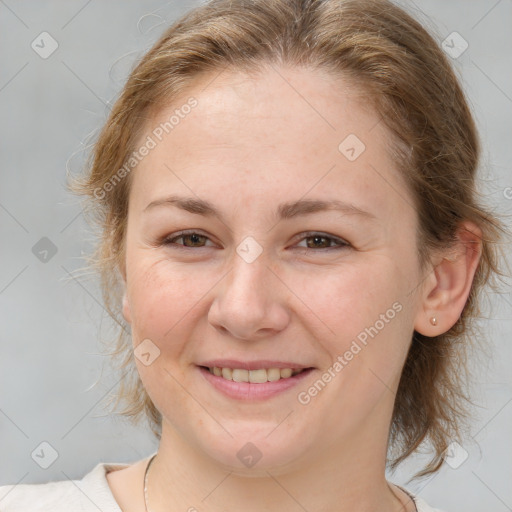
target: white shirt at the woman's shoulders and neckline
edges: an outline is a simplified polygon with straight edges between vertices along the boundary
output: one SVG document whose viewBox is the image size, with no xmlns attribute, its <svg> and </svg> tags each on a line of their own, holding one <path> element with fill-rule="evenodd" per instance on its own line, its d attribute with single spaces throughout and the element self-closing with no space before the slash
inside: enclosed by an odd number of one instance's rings
<svg viewBox="0 0 512 512">
<path fill-rule="evenodd" d="M 129 464 L 103 462 L 80 480 L 1 486 L 0 511 L 122 512 L 110 490 L 106 475 L 127 466 Z M 414 499 L 418 512 L 441 512 L 429 507 L 409 491 L 403 490 Z"/>
</svg>

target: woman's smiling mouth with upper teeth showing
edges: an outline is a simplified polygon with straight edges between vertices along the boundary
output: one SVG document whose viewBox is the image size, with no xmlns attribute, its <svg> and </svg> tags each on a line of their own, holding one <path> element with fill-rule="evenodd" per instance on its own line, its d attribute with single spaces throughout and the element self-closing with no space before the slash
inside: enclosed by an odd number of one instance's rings
<svg viewBox="0 0 512 512">
<path fill-rule="evenodd" d="M 198 365 L 210 387 L 237 400 L 264 400 L 295 387 L 315 370 L 293 363 L 215 361 Z"/>
</svg>

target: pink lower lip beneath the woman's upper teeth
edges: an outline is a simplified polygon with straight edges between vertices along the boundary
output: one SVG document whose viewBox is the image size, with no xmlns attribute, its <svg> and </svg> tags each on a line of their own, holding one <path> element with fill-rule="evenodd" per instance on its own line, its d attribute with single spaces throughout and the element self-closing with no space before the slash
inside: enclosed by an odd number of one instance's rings
<svg viewBox="0 0 512 512">
<path fill-rule="evenodd" d="M 279 379 L 274 382 L 263 382 L 262 384 L 257 384 L 254 382 L 235 382 L 234 380 L 227 380 L 223 377 L 218 377 L 217 375 L 210 373 L 210 371 L 204 367 L 199 367 L 199 370 L 204 378 L 216 390 L 230 398 L 243 401 L 265 400 L 279 393 L 283 393 L 284 391 L 296 386 L 313 371 L 312 368 L 308 368 L 307 370 L 287 379 Z"/>
</svg>

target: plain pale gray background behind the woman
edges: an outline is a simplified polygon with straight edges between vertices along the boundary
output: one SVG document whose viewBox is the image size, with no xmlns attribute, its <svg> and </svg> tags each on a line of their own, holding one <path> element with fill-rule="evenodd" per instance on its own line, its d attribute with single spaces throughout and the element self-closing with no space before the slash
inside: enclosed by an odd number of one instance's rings
<svg viewBox="0 0 512 512">
<path fill-rule="evenodd" d="M 144 425 L 99 405 L 116 379 L 108 368 L 102 375 L 98 339 L 108 336 L 108 322 L 97 283 L 70 274 L 84 266 L 92 234 L 66 192 L 66 169 L 80 170 L 134 60 L 198 3 L 0 0 L 0 485 L 81 478 L 100 461 L 132 462 L 156 450 Z M 510 214 L 511 0 L 404 4 L 439 41 L 456 31 L 469 43 L 453 62 L 482 135 L 482 190 Z M 47 59 L 31 48 L 44 31 L 59 45 Z M 33 252 L 42 237 L 57 249 L 47 261 Z M 447 511 L 512 510 L 510 294 L 492 303 L 482 321 L 490 341 L 478 340 L 481 357 L 472 361 L 469 457 L 409 485 Z M 43 441 L 58 452 L 48 469 L 31 457 Z M 391 478 L 404 483 L 420 462 Z"/>
</svg>

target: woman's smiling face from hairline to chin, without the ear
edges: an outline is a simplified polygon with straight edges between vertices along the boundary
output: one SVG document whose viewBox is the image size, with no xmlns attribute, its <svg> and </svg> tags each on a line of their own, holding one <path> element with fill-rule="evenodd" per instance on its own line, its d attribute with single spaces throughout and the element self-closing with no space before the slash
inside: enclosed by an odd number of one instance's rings
<svg viewBox="0 0 512 512">
<path fill-rule="evenodd" d="M 131 176 L 124 315 L 162 442 L 239 471 L 385 449 L 421 308 L 389 135 L 339 77 L 217 75 Z"/>
</svg>

